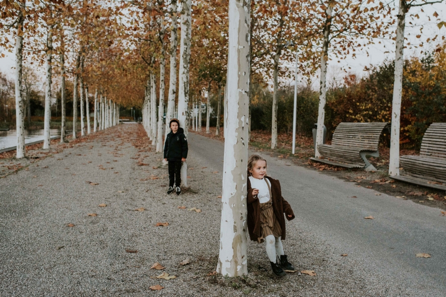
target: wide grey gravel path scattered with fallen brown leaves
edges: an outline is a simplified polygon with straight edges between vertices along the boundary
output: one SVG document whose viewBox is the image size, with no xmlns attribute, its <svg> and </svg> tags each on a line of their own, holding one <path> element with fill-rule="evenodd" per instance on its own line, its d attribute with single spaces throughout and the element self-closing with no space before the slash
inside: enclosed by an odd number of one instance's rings
<svg viewBox="0 0 446 297">
<path fill-rule="evenodd" d="M 0 179 L 0 296 L 424 296 L 364 273 L 364 261 L 340 257 L 298 220 L 287 223 L 285 252 L 316 276 L 274 278 L 264 245 L 252 242 L 247 277 L 208 275 L 222 173 L 191 151 L 190 190 L 167 196 L 162 154 L 148 143 L 141 125 L 119 125 Z M 157 279 L 162 272 L 176 278 Z"/>
</svg>

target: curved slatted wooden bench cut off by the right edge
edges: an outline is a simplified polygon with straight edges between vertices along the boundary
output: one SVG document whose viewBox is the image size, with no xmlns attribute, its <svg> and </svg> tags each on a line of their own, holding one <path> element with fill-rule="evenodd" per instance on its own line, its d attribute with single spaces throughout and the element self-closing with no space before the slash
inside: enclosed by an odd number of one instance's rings
<svg viewBox="0 0 446 297">
<path fill-rule="evenodd" d="M 446 191 L 446 123 L 433 123 L 423 136 L 420 155 L 401 156 L 404 176 L 391 178 Z"/>
</svg>

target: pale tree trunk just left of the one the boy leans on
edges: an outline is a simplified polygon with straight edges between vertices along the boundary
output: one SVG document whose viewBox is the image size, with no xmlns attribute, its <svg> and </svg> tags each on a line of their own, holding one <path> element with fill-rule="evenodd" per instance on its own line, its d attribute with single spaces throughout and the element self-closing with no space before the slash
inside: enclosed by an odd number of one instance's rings
<svg viewBox="0 0 446 297">
<path fill-rule="evenodd" d="M 171 0 L 171 18 L 172 27 L 170 30 L 170 72 L 169 72 L 169 97 L 167 99 L 167 112 L 166 112 L 166 132 L 164 139 L 167 139 L 167 134 L 170 132 L 169 123 L 173 118 L 175 112 L 175 96 L 176 96 L 176 49 L 178 46 L 178 34 L 177 34 L 177 17 L 176 17 L 176 1 Z M 167 164 L 163 159 L 163 164 Z"/>
</svg>

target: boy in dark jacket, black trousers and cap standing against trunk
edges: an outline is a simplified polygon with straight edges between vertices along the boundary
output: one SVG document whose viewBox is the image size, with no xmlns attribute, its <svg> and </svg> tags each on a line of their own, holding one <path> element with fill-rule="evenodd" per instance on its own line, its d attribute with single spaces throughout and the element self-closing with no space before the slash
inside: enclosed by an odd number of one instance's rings
<svg viewBox="0 0 446 297">
<path fill-rule="evenodd" d="M 181 195 L 181 166 L 187 158 L 187 140 L 177 119 L 172 119 L 169 122 L 169 127 L 171 131 L 167 134 L 164 145 L 164 159 L 169 164 L 169 190 L 167 194 L 170 195 L 173 191 L 176 191 L 176 195 Z M 174 183 L 176 188 L 173 188 Z"/>
</svg>

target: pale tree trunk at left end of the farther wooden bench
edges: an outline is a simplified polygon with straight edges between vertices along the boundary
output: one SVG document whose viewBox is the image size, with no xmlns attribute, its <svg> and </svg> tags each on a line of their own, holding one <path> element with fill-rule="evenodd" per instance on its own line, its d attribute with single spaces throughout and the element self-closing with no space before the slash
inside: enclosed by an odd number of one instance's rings
<svg viewBox="0 0 446 297">
<path fill-rule="evenodd" d="M 314 148 L 315 157 L 320 157 L 318 145 L 323 144 L 324 139 L 324 120 L 325 120 L 325 103 L 327 101 L 327 60 L 328 49 L 330 45 L 330 28 L 332 24 L 332 6 L 327 7 L 327 19 L 325 21 L 322 53 L 321 53 L 321 86 L 319 89 L 319 109 L 318 109 L 318 128 L 316 133 L 316 148 Z"/>
</svg>

